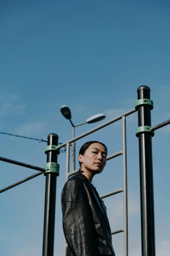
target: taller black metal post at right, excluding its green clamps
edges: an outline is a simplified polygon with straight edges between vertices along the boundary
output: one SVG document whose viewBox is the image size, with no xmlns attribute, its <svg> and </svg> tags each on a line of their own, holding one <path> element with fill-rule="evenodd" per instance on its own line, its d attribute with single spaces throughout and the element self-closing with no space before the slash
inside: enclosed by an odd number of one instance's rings
<svg viewBox="0 0 170 256">
<path fill-rule="evenodd" d="M 137 89 L 138 99 L 150 99 L 150 88 L 140 86 Z M 151 126 L 149 105 L 138 109 L 138 126 Z M 155 256 L 154 197 L 152 170 L 151 133 L 145 131 L 139 135 L 140 165 L 140 201 L 141 201 L 141 237 L 142 255 Z"/>
</svg>

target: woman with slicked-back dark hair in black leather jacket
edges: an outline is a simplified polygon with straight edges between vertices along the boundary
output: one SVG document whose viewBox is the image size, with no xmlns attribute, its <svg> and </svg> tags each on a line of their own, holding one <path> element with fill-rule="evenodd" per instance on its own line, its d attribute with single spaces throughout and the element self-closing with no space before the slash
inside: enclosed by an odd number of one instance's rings
<svg viewBox="0 0 170 256">
<path fill-rule="evenodd" d="M 66 256 L 115 256 L 106 206 L 92 183 L 106 165 L 107 148 L 98 141 L 80 148 L 79 171 L 64 185 L 61 203 Z"/>
</svg>

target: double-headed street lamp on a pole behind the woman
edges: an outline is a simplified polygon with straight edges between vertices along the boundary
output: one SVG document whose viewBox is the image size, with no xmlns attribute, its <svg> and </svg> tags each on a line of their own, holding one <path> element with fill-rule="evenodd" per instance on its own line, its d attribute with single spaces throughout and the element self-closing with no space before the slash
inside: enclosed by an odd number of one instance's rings
<svg viewBox="0 0 170 256">
<path fill-rule="evenodd" d="M 60 111 L 61 111 L 62 115 L 64 115 L 64 117 L 70 121 L 70 123 L 73 127 L 73 138 L 74 138 L 74 128 L 75 127 L 80 126 L 80 125 L 84 125 L 84 124 L 92 124 L 92 123 L 95 123 L 95 122 L 99 122 L 99 121 L 103 120 L 106 117 L 104 114 L 100 113 L 100 114 L 96 114 L 96 115 L 93 115 L 93 116 L 87 118 L 86 122 L 74 125 L 71 121 L 71 111 L 70 111 L 70 109 L 66 105 L 63 105 L 63 106 L 61 106 Z M 75 150 L 75 142 L 72 143 L 72 149 L 73 149 L 72 171 L 75 171 L 75 151 L 76 151 Z"/>
</svg>

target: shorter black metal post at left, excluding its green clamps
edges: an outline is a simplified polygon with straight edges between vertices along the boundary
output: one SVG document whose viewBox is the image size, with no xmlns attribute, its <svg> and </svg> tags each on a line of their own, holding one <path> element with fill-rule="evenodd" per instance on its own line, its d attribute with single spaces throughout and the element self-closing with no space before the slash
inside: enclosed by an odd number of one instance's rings
<svg viewBox="0 0 170 256">
<path fill-rule="evenodd" d="M 58 145 L 57 134 L 51 133 L 48 136 L 48 145 Z M 57 162 L 57 151 L 51 150 L 47 153 L 47 162 Z M 56 173 L 46 174 L 43 256 L 53 256 L 54 252 L 56 181 Z"/>
</svg>

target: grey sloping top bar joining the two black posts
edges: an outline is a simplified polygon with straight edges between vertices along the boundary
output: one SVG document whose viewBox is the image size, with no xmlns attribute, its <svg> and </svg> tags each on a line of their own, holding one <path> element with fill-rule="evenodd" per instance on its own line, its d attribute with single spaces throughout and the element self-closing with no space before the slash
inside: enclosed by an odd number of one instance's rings
<svg viewBox="0 0 170 256">
<path fill-rule="evenodd" d="M 82 134 L 78 135 L 77 137 L 72 138 L 71 140 L 62 143 L 61 145 L 58 145 L 58 146 L 56 147 L 56 149 L 59 149 L 59 148 L 61 148 L 61 147 L 64 147 L 67 143 L 72 143 L 72 142 L 74 142 L 74 141 L 77 141 L 77 140 L 79 140 L 79 139 L 81 139 L 81 138 L 83 138 L 83 137 L 85 137 L 85 136 L 87 136 L 87 135 L 89 135 L 89 134 L 91 134 L 91 133 L 97 131 L 97 130 L 100 130 L 101 128 L 106 127 L 107 125 L 110 125 L 110 124 L 112 124 L 112 123 L 114 123 L 114 122 L 120 120 L 120 119 L 122 118 L 122 116 L 128 116 L 128 115 L 130 115 L 130 114 L 135 113 L 136 111 L 137 111 L 137 110 L 135 110 L 135 109 L 129 110 L 129 111 L 127 111 L 127 112 L 125 112 L 125 113 L 123 113 L 123 114 L 121 114 L 121 115 L 119 115 L 119 116 L 117 116 L 117 117 L 115 117 L 115 118 L 113 118 L 113 119 L 107 121 L 106 123 L 104 123 L 104 124 L 102 124 L 102 125 L 99 125 L 99 126 L 93 128 L 93 129 L 89 130 L 89 131 L 86 131 L 85 133 L 82 133 Z"/>
</svg>

